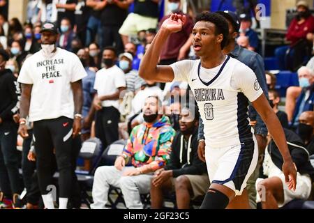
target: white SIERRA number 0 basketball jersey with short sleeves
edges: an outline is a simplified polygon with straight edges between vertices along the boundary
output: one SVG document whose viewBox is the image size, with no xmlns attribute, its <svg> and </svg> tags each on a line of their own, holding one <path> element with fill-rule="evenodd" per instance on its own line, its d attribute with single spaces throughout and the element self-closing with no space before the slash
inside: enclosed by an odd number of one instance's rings
<svg viewBox="0 0 314 223">
<path fill-rule="evenodd" d="M 208 146 L 235 146 L 252 139 L 248 101 L 263 93 L 253 70 L 230 56 L 211 69 L 202 68 L 200 60 L 179 61 L 171 67 L 174 80 L 188 82 L 193 91 Z"/>
</svg>

